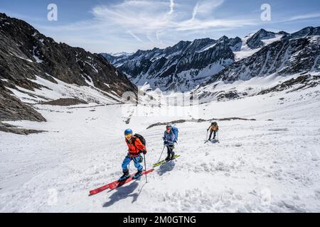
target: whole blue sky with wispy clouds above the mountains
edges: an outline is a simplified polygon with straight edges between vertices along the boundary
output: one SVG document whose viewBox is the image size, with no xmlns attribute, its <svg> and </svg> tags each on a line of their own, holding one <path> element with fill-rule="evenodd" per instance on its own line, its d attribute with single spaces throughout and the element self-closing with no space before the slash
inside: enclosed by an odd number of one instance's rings
<svg viewBox="0 0 320 227">
<path fill-rule="evenodd" d="M 49 4 L 57 6 L 57 21 L 48 20 Z M 320 26 L 319 0 L 1 0 L 0 12 L 90 52 L 135 52 L 180 40 L 243 38 L 260 28 L 293 33 Z"/>
</svg>

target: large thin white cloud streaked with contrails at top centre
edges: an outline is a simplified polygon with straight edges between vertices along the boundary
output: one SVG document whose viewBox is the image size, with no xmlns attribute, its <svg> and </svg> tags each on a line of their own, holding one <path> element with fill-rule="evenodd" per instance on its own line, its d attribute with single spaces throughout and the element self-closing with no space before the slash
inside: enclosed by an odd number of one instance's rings
<svg viewBox="0 0 320 227">
<path fill-rule="evenodd" d="M 250 20 L 222 20 L 213 18 L 213 11 L 222 5 L 223 2 L 224 0 L 198 1 L 193 7 L 192 17 L 189 19 L 187 15 L 191 11 L 179 11 L 175 15 L 178 7 L 175 11 L 174 7 L 176 4 L 173 0 L 169 4 L 169 12 L 168 4 L 165 1 L 131 0 L 111 6 L 95 6 L 92 9 L 92 14 L 97 21 L 105 21 L 105 23 L 125 28 L 126 31 L 128 29 L 134 31 L 136 35 L 132 36 L 136 39 L 137 34 L 149 35 L 150 33 L 154 33 L 156 39 L 160 40 L 159 31 L 161 33 L 164 33 L 164 31 L 169 33 L 170 31 L 188 31 L 217 27 L 238 28 L 254 23 L 254 21 Z M 203 17 L 196 18 L 197 15 Z"/>
</svg>

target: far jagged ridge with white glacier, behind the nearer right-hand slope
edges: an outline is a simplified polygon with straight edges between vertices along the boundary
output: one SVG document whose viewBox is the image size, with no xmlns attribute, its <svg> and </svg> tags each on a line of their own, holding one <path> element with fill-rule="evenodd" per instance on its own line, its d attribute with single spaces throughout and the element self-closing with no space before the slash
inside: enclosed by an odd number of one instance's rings
<svg viewBox="0 0 320 227">
<path fill-rule="evenodd" d="M 218 40 L 203 38 L 193 42 L 181 41 L 166 49 L 138 50 L 133 55 L 102 55 L 127 74 L 129 79 L 138 86 L 148 83 L 152 89 L 186 92 L 208 80 L 212 81 L 212 77 L 222 70 L 233 68 L 234 65 L 247 64 L 241 60 L 251 57 L 272 43 L 317 34 L 319 34 L 319 28 L 312 27 L 292 34 L 260 29 L 257 33 L 252 33 L 242 39 L 226 36 Z M 278 43 L 278 45 L 283 44 Z M 259 66 L 258 63 L 255 65 Z"/>
</svg>

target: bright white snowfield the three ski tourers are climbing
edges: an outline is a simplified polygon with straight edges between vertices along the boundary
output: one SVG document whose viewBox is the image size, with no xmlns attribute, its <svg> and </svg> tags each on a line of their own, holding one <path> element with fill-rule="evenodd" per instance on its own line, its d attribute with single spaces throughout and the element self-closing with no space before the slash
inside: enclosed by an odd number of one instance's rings
<svg viewBox="0 0 320 227">
<path fill-rule="evenodd" d="M 320 211 L 319 87 L 208 102 L 187 116 L 159 116 L 156 109 L 137 116 L 134 106 L 110 104 L 34 104 L 48 122 L 9 122 L 47 132 L 0 132 L 0 212 Z M 209 121 L 178 123 L 181 157 L 156 167 L 148 183 L 143 176 L 88 196 L 122 175 L 124 129 L 146 138 L 150 169 L 164 133 L 164 126 L 146 129 L 151 124 L 230 117 L 256 121 L 218 121 L 220 143 L 204 143 Z"/>
</svg>

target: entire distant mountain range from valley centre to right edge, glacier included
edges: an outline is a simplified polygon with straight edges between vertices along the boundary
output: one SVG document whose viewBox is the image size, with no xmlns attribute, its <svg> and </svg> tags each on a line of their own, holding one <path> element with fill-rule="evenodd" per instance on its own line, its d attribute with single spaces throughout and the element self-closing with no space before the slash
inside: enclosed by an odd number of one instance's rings
<svg viewBox="0 0 320 227">
<path fill-rule="evenodd" d="M 217 80 L 234 82 L 276 72 L 319 72 L 317 35 L 319 27 L 292 34 L 260 29 L 242 39 L 203 38 L 130 55 L 102 55 L 138 86 L 149 83 L 152 89 L 186 92 Z"/>
</svg>

